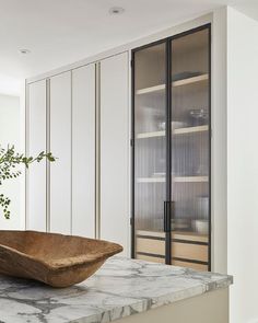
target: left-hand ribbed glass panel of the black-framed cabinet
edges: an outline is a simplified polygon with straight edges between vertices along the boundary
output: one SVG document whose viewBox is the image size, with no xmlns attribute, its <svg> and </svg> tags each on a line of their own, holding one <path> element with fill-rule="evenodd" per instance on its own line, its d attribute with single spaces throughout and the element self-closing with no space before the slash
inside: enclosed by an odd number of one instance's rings
<svg viewBox="0 0 258 323">
<path fill-rule="evenodd" d="M 166 44 L 134 53 L 134 256 L 165 263 Z"/>
</svg>

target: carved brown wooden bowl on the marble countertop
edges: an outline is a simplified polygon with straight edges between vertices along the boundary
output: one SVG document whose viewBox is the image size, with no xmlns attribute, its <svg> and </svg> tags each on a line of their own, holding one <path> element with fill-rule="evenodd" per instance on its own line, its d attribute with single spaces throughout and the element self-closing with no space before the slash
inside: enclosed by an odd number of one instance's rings
<svg viewBox="0 0 258 323">
<path fill-rule="evenodd" d="M 0 274 L 68 287 L 122 251 L 116 243 L 37 231 L 0 230 Z"/>
</svg>

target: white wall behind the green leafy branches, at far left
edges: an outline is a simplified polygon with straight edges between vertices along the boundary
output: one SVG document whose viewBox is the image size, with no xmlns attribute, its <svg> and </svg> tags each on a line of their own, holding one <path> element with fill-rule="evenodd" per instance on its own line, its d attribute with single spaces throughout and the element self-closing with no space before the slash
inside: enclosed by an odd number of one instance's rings
<svg viewBox="0 0 258 323">
<path fill-rule="evenodd" d="M 3 148 L 9 143 L 14 145 L 15 149 L 20 151 L 22 149 L 21 138 L 20 97 L 0 94 L 0 145 Z M 22 177 L 7 181 L 0 186 L 0 191 L 11 199 L 11 219 L 5 220 L 0 208 L 0 230 L 23 227 L 21 185 Z"/>
</svg>

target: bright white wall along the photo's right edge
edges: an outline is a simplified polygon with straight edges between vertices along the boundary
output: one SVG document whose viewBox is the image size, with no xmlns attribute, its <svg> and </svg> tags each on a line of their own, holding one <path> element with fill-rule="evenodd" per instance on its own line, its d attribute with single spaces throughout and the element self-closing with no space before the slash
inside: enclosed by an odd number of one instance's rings
<svg viewBox="0 0 258 323">
<path fill-rule="evenodd" d="M 227 9 L 227 270 L 231 322 L 258 322 L 258 22 Z"/>
</svg>

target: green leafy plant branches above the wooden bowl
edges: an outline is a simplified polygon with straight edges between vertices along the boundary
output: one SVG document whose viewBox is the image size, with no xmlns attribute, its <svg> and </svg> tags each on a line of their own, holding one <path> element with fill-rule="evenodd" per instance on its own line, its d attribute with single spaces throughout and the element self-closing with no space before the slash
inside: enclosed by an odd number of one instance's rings
<svg viewBox="0 0 258 323">
<path fill-rule="evenodd" d="M 10 178 L 16 178 L 22 174 L 21 170 L 17 169 L 17 165 L 23 164 L 26 169 L 34 163 L 40 162 L 43 159 L 47 159 L 49 162 L 54 162 L 56 158 L 51 152 L 42 151 L 37 157 L 25 157 L 23 153 L 17 153 L 14 150 L 14 146 L 8 146 L 7 149 L 1 148 L 0 146 L 0 186 L 3 181 Z M 0 194 L 0 206 L 3 210 L 3 216 L 5 219 L 10 219 L 10 198 Z"/>
</svg>

